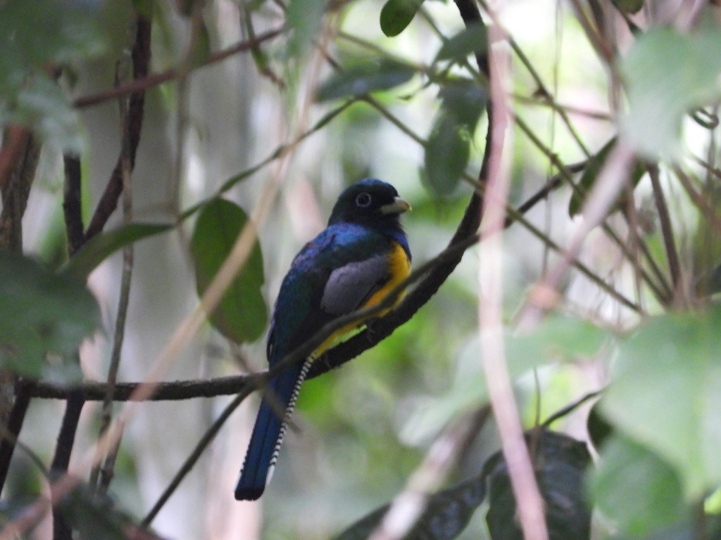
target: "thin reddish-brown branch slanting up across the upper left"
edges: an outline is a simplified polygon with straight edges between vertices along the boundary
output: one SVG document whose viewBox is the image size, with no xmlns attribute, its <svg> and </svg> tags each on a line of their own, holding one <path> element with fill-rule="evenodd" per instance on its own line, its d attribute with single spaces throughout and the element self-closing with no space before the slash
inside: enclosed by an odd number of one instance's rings
<svg viewBox="0 0 721 540">
<path fill-rule="evenodd" d="M 211 53 L 208 55 L 208 58 L 203 60 L 203 62 L 198 63 L 197 66 L 193 66 L 190 71 L 195 71 L 198 68 L 203 68 L 204 66 L 209 66 L 213 63 L 218 63 L 232 55 L 236 55 L 237 53 L 244 53 L 248 50 L 252 50 L 252 48 L 257 47 L 262 42 L 271 40 L 273 37 L 282 34 L 284 31 L 285 30 L 283 28 L 269 30 L 268 32 L 264 32 L 251 40 L 241 41 L 235 45 L 231 45 L 229 48 L 219 50 L 216 53 Z M 162 73 L 154 73 L 153 75 L 147 75 L 146 73 L 142 77 L 138 77 L 136 80 L 123 84 L 122 86 L 107 89 L 90 96 L 80 97 L 74 101 L 73 106 L 77 108 L 90 107 L 91 105 L 97 105 L 121 96 L 135 96 L 143 94 L 146 90 L 154 88 L 154 86 L 159 86 L 160 84 L 167 83 L 168 81 L 173 81 L 185 74 L 187 74 L 187 71 L 185 73 L 181 73 L 177 68 L 172 68 L 167 71 L 163 71 Z"/>
</svg>

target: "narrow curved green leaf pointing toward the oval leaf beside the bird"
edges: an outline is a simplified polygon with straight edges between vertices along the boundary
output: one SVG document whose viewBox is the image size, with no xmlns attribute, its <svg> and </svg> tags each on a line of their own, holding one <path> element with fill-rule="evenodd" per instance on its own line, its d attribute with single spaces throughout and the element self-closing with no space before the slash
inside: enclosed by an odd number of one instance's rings
<svg viewBox="0 0 721 540">
<path fill-rule="evenodd" d="M 165 233 L 172 228 L 173 225 L 165 223 L 128 223 L 107 233 L 100 233 L 88 240 L 61 271 L 87 279 L 90 272 L 112 253 L 138 240 Z"/>
</svg>

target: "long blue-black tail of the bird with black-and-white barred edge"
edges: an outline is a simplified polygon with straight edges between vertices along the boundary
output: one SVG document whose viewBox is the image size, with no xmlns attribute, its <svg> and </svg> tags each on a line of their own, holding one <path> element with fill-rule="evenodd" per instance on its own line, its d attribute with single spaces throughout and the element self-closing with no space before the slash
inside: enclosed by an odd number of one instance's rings
<svg viewBox="0 0 721 540">
<path fill-rule="evenodd" d="M 303 366 L 293 366 L 268 383 L 268 390 L 275 397 L 275 402 L 285 407 L 285 415 L 281 416 L 280 411 L 263 398 L 235 487 L 236 500 L 256 500 L 263 494 L 265 485 L 273 474 L 275 460 L 278 459 L 280 444 L 286 432 L 286 420 L 293 412 L 298 391 L 310 364 L 311 361 L 306 361 Z"/>
</svg>

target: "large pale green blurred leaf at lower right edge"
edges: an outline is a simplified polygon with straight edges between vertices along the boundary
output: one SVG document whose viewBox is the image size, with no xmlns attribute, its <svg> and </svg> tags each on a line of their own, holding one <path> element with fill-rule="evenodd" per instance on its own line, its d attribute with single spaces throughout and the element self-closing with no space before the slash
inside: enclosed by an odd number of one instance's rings
<svg viewBox="0 0 721 540">
<path fill-rule="evenodd" d="M 721 484 L 721 305 L 648 320 L 619 348 L 601 412 L 676 469 L 687 498 Z"/>
</svg>

